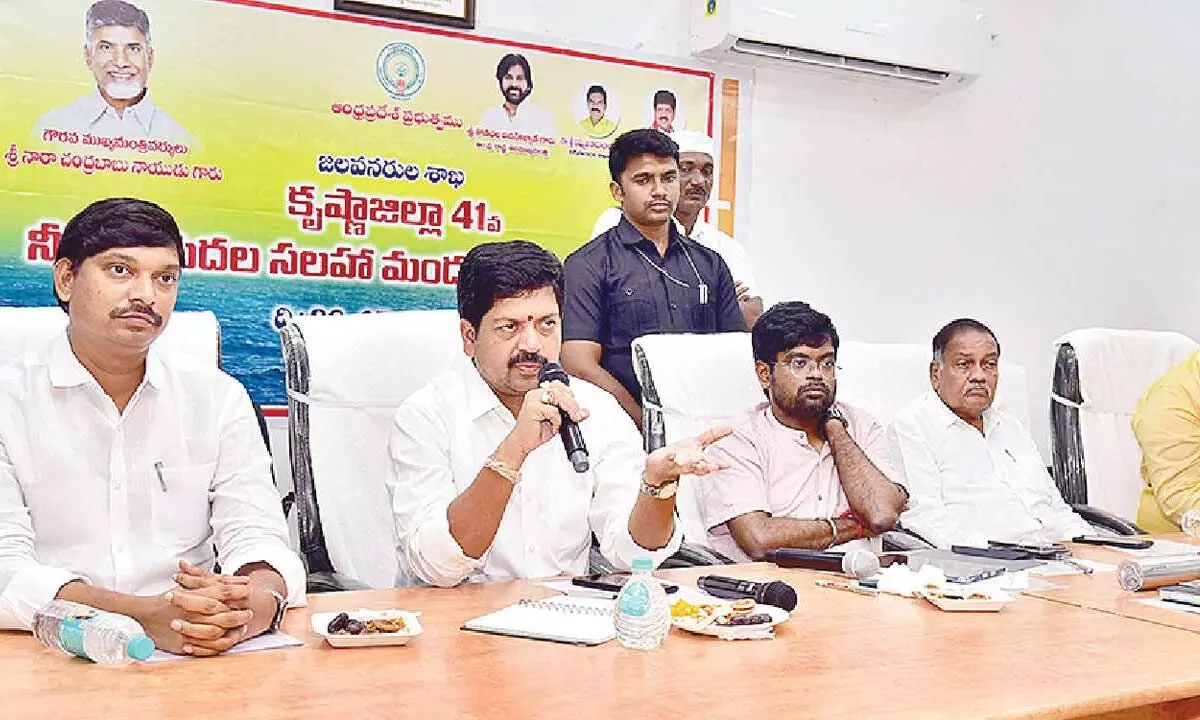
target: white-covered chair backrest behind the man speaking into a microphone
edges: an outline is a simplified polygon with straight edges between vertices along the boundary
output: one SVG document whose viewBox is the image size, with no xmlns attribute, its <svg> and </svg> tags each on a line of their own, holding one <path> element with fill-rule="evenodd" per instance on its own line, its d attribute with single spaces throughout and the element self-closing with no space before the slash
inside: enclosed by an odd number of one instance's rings
<svg viewBox="0 0 1200 720">
<path fill-rule="evenodd" d="M 388 494 L 396 408 L 462 354 L 458 314 L 300 317 L 281 332 L 292 476 L 310 572 L 402 584 Z"/>
</svg>

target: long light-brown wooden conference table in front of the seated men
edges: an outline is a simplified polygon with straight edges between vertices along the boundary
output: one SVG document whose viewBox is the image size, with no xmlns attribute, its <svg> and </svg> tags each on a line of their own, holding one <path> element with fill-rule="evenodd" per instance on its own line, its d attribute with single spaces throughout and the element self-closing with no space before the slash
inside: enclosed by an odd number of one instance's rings
<svg viewBox="0 0 1200 720">
<path fill-rule="evenodd" d="M 659 575 L 694 583 L 712 571 Z M 1200 666 L 1188 661 L 1200 656 L 1200 632 L 1169 623 L 1038 595 L 998 613 L 952 613 L 924 600 L 820 588 L 822 575 L 810 571 L 745 564 L 720 572 L 797 588 L 799 606 L 774 640 L 674 629 L 662 648 L 637 652 L 616 641 L 578 647 L 460 629 L 553 594 L 533 581 L 336 593 L 288 612 L 283 630 L 304 647 L 214 659 L 102 667 L 43 649 L 28 634 L 0 634 L 0 716 L 1200 715 Z M 1115 586 L 1111 574 L 1081 580 L 1102 580 L 1099 590 L 1104 577 Z M 424 634 L 404 647 L 335 649 L 310 628 L 313 612 L 360 607 L 420 611 Z"/>
</svg>

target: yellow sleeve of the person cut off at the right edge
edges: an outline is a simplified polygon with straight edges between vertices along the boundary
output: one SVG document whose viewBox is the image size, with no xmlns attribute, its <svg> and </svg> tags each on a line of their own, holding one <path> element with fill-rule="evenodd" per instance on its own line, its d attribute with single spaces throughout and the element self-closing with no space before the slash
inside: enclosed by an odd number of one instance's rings
<svg viewBox="0 0 1200 720">
<path fill-rule="evenodd" d="M 1151 386 L 1133 415 L 1142 478 L 1175 523 L 1200 506 L 1200 373 L 1192 367 L 1189 362 Z"/>
</svg>

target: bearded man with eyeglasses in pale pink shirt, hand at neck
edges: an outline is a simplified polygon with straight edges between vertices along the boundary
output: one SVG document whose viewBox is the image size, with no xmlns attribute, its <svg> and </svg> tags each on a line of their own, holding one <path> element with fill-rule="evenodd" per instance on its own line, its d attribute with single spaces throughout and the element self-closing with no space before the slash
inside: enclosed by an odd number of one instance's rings
<svg viewBox="0 0 1200 720">
<path fill-rule="evenodd" d="M 881 550 L 907 491 L 883 428 L 835 402 L 838 330 L 805 302 L 780 302 L 751 331 L 767 402 L 709 449 L 728 464 L 698 478 L 708 544 L 734 560 L 780 547 Z"/>
</svg>

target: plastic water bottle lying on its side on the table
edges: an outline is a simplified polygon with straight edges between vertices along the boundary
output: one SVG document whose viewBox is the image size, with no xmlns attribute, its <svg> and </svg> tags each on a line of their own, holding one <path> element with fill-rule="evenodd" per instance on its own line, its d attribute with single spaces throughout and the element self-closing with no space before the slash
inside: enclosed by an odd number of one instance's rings
<svg viewBox="0 0 1200 720">
<path fill-rule="evenodd" d="M 154 641 L 133 618 L 70 600 L 52 600 L 34 614 L 34 637 L 101 665 L 126 665 L 154 654 Z"/>
</svg>

